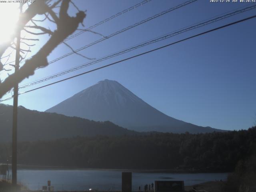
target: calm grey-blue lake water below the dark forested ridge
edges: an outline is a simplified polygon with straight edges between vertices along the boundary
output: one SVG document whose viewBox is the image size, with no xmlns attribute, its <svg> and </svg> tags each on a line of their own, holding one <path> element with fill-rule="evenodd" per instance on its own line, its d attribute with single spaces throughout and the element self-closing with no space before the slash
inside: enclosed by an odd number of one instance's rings
<svg viewBox="0 0 256 192">
<path fill-rule="evenodd" d="M 51 180 L 54 190 L 115 191 L 122 188 L 122 170 L 18 170 L 18 182 L 30 190 L 42 189 Z M 144 189 L 154 180 L 184 180 L 185 185 L 226 180 L 228 173 L 140 173 L 132 172 L 132 190 Z"/>
</svg>

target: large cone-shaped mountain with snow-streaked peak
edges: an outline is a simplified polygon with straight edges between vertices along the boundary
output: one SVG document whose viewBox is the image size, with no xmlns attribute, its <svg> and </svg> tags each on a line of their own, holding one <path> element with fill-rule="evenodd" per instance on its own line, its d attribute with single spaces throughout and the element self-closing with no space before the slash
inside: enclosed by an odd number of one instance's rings
<svg viewBox="0 0 256 192">
<path fill-rule="evenodd" d="M 100 81 L 46 112 L 97 121 L 109 120 L 119 126 L 136 131 L 198 133 L 216 130 L 167 116 L 113 80 Z"/>
</svg>

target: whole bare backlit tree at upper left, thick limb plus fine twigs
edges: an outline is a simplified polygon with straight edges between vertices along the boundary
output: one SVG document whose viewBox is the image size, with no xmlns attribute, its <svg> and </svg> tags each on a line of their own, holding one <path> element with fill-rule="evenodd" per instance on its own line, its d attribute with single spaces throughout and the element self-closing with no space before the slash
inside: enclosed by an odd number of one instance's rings
<svg viewBox="0 0 256 192">
<path fill-rule="evenodd" d="M 24 6 L 26 3 L 21 3 L 20 6 Z M 75 17 L 68 15 L 69 5 L 72 4 L 78 10 Z M 9 75 L 3 82 L 0 81 L 0 98 L 11 90 L 16 83 L 21 82 L 25 78 L 34 74 L 34 70 L 37 68 L 46 67 L 48 65 L 47 56 L 62 43 L 68 36 L 74 33 L 78 29 L 78 25 L 83 23 L 86 14 L 84 11 L 80 11 L 77 6 L 71 0 L 36 0 L 33 3 L 28 4 L 28 8 L 20 14 L 16 32 L 12 36 L 11 40 L 0 45 L 0 57 L 1 60 L 4 57 L 4 53 L 8 48 L 15 49 L 15 38 L 19 30 L 24 30 L 27 33 L 34 35 L 49 34 L 49 40 L 42 46 L 42 48 L 24 62 L 24 65 L 20 67 L 18 72 Z M 58 13 L 55 13 L 58 9 Z M 45 18 L 42 20 L 33 19 L 37 15 L 44 15 Z M 38 23 L 48 20 L 56 25 L 56 30 L 51 31 L 39 25 Z M 28 24 L 31 22 L 32 24 Z M 31 32 L 31 29 L 40 30 L 40 32 Z M 26 53 L 30 52 L 29 44 L 31 41 L 37 41 L 38 39 L 21 38 L 21 42 L 29 46 L 28 50 L 20 50 L 21 60 L 25 58 Z M 64 43 L 66 44 L 66 43 Z M 68 46 L 68 44 L 66 44 Z M 70 46 L 69 46 L 70 47 Z M 71 47 L 70 47 L 71 48 Z M 72 48 L 71 48 L 72 49 Z M 8 70 L 5 68 L 7 64 L 3 64 L 0 60 L 0 71 Z"/>
</svg>

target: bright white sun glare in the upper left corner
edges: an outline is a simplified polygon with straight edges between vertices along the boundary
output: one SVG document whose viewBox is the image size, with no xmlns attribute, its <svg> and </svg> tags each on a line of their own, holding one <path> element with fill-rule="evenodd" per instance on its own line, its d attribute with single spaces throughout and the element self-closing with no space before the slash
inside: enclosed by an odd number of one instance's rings
<svg viewBox="0 0 256 192">
<path fill-rule="evenodd" d="M 18 3 L 0 4 L 0 44 L 10 40 L 10 37 L 14 33 L 19 16 L 18 5 Z"/>
</svg>

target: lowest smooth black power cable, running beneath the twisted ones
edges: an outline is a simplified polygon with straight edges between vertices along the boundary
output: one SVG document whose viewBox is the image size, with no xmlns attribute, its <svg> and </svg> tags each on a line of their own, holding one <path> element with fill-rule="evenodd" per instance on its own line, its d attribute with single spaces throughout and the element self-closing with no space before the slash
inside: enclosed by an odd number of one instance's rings
<svg viewBox="0 0 256 192">
<path fill-rule="evenodd" d="M 189 40 L 189 39 L 191 39 L 191 38 L 194 38 L 194 37 L 197 37 L 197 36 L 201 36 L 201 35 L 203 35 L 203 34 L 207 34 L 207 33 L 210 33 L 210 32 L 213 32 L 213 31 L 216 31 L 216 30 L 219 30 L 219 29 L 222 29 L 222 28 L 225 28 L 225 27 L 234 25 L 234 24 L 238 24 L 238 23 L 244 22 L 244 21 L 246 21 L 246 20 L 250 20 L 250 19 L 252 19 L 252 18 L 256 18 L 256 15 L 251 16 L 251 17 L 248 17 L 248 18 L 244 18 L 244 19 L 242 19 L 242 20 L 238 20 L 238 21 L 236 21 L 236 22 L 232 22 L 232 23 L 229 23 L 229 24 L 226 24 L 226 25 L 223 25 L 223 26 L 220 26 L 220 27 L 217 27 L 217 28 L 214 28 L 214 29 L 211 29 L 211 30 L 202 32 L 202 33 L 199 33 L 199 34 L 196 34 L 196 35 L 193 35 L 193 36 L 190 36 L 190 37 L 188 37 L 188 38 L 184 38 L 184 39 L 182 39 L 182 40 L 178 40 L 178 41 L 176 41 L 176 42 L 173 42 L 173 43 L 170 43 L 170 44 L 167 44 L 167 45 L 164 45 L 164 46 L 161 46 L 161 47 L 158 47 L 158 48 L 155 48 L 155 49 L 152 49 L 152 50 L 149 50 L 149 51 L 140 53 L 140 54 L 137 54 L 137 55 L 135 55 L 135 56 L 131 56 L 131 57 L 128 57 L 128 58 L 119 60 L 119 61 L 117 61 L 117 62 L 113 62 L 113 63 L 108 64 L 108 65 L 104 65 L 104 66 L 99 67 L 99 68 L 95 68 L 95 69 L 90 70 L 90 71 L 86 71 L 86 72 L 83 72 L 83 73 L 80 73 L 80 74 L 77 74 L 77 75 L 74 75 L 74 76 L 71 76 L 71 77 L 68 77 L 68 78 L 65 78 L 65 79 L 62 79 L 62 80 L 59 80 L 59 81 L 50 83 L 50 84 L 47 84 L 47 85 L 44 85 L 44 86 L 40 86 L 40 87 L 38 87 L 38 88 L 34 88 L 34 89 L 31 89 L 31 90 L 22 92 L 22 93 L 20 93 L 20 94 L 18 94 L 18 95 L 21 95 L 21 94 L 24 94 L 24 93 L 28 93 L 28 92 L 32 92 L 32 91 L 38 90 L 38 89 L 40 89 L 40 88 L 44 88 L 44 87 L 47 87 L 47 86 L 50 86 L 50 85 L 53 85 L 53 84 L 56 84 L 56 83 L 59 83 L 59 82 L 62 82 L 62 81 L 66 81 L 66 80 L 68 80 L 68 79 L 75 78 L 75 77 L 78 77 L 78 76 L 81 76 L 81 75 L 84 75 L 84 74 L 87 74 L 87 73 L 90 73 L 90 72 L 93 72 L 93 71 L 96 71 L 96 70 L 100 70 L 100 69 L 102 69 L 102 68 L 106 68 L 106 67 L 112 66 L 112 65 L 114 65 L 114 64 L 118 64 L 118 63 L 120 63 L 120 62 L 124 62 L 124 61 L 126 61 L 126 60 L 130 60 L 130 59 L 132 59 L 132 58 L 136 58 L 136 57 L 138 57 L 138 56 L 142 56 L 142 55 L 144 55 L 144 54 L 148 54 L 148 53 L 150 53 L 150 52 L 154 52 L 154 51 L 156 51 L 156 50 L 160 50 L 160 49 L 162 49 L 162 48 L 165 48 L 165 47 L 168 47 L 168 46 L 171 46 L 171 45 L 174 45 L 174 44 L 177 44 L 177 43 L 180 43 L 180 42 Z M 12 96 L 12 97 L 13 97 L 13 96 Z M 2 102 L 2 101 L 1 101 L 1 102 Z"/>
</svg>

